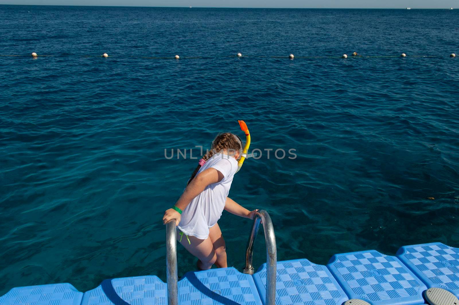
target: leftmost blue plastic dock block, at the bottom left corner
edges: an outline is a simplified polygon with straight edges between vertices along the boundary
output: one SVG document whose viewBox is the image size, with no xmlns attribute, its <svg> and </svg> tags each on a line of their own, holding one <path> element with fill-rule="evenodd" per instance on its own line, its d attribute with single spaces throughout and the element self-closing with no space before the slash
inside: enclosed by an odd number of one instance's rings
<svg viewBox="0 0 459 305">
<path fill-rule="evenodd" d="M 69 283 L 12 288 L 0 305 L 80 305 L 83 293 Z"/>
</svg>

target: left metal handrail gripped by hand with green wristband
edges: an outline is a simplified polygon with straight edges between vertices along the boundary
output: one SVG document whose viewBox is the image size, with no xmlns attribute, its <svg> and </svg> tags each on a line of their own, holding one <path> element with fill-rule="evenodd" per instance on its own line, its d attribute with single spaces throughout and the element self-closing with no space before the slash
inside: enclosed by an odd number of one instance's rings
<svg viewBox="0 0 459 305">
<path fill-rule="evenodd" d="M 177 277 L 177 229 L 176 220 L 166 223 L 166 270 L 168 283 L 168 305 L 179 304 Z"/>
</svg>

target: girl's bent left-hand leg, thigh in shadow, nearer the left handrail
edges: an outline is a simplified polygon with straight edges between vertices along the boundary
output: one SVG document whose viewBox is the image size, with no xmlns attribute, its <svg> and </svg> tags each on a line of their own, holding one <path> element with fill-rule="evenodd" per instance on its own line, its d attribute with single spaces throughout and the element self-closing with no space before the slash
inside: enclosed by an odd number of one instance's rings
<svg viewBox="0 0 459 305">
<path fill-rule="evenodd" d="M 179 232 L 177 232 L 177 241 L 180 240 L 180 237 Z M 198 258 L 197 267 L 199 269 L 210 269 L 217 260 L 217 255 L 215 255 L 210 238 L 207 237 L 207 239 L 199 239 L 194 236 L 189 236 L 188 238 L 190 239 L 190 243 L 188 243 L 188 239 L 185 235 L 182 237 L 182 246 Z"/>
</svg>

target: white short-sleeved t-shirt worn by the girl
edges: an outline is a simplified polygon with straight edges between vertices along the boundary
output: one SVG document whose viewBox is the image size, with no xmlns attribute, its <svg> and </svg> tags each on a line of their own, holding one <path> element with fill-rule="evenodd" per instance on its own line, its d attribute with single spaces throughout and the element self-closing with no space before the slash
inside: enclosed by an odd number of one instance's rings
<svg viewBox="0 0 459 305">
<path fill-rule="evenodd" d="M 178 226 L 186 235 L 199 239 L 209 236 L 209 228 L 213 227 L 222 215 L 236 173 L 237 161 L 234 157 L 218 153 L 208 159 L 196 175 L 211 167 L 222 173 L 224 178 L 220 182 L 208 185 L 201 194 L 191 200 L 183 210 Z"/>
</svg>

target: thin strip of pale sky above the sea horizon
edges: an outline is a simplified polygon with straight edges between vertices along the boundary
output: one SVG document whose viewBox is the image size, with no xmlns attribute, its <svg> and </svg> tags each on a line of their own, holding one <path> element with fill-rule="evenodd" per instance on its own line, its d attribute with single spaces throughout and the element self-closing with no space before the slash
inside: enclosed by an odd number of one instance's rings
<svg viewBox="0 0 459 305">
<path fill-rule="evenodd" d="M 261 8 L 449 8 L 458 0 L 0 0 L 0 4 Z"/>
</svg>

